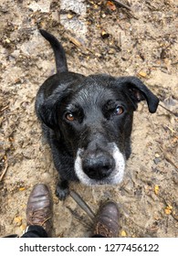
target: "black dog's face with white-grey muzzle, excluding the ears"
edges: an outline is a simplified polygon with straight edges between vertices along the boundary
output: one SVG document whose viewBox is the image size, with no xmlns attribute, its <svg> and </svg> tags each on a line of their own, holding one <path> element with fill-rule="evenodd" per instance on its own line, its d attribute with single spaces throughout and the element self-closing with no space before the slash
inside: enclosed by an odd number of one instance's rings
<svg viewBox="0 0 178 256">
<path fill-rule="evenodd" d="M 61 102 L 60 131 L 75 157 L 81 182 L 119 183 L 129 150 L 125 138 L 131 132 L 133 108 L 129 111 L 130 102 L 106 84 L 91 79 L 88 86 L 84 84 Z"/>
</svg>

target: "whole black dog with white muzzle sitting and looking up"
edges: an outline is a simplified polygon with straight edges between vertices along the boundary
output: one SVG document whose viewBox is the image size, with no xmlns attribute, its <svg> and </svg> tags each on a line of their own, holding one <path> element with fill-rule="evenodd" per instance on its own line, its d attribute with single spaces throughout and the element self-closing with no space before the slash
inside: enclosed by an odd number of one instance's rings
<svg viewBox="0 0 178 256">
<path fill-rule="evenodd" d="M 58 39 L 40 30 L 54 50 L 57 74 L 37 93 L 36 111 L 51 147 L 60 181 L 57 195 L 68 195 L 68 181 L 119 184 L 131 155 L 133 112 L 146 100 L 156 112 L 159 100 L 136 77 L 85 77 L 68 71 Z"/>
</svg>

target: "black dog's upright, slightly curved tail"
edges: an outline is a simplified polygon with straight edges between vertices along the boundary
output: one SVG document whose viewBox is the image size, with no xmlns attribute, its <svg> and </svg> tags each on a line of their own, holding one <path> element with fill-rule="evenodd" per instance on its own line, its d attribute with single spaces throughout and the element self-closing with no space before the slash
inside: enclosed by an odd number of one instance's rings
<svg viewBox="0 0 178 256">
<path fill-rule="evenodd" d="M 55 60 L 56 60 L 56 66 L 57 66 L 57 72 L 67 72 L 68 71 L 68 64 L 66 59 L 65 50 L 62 47 L 62 45 L 58 42 L 58 39 L 54 37 L 53 35 L 49 34 L 44 29 L 39 29 L 39 32 L 43 37 L 47 39 L 47 41 L 50 43 L 51 47 L 53 48 L 54 54 L 55 54 Z"/>
</svg>

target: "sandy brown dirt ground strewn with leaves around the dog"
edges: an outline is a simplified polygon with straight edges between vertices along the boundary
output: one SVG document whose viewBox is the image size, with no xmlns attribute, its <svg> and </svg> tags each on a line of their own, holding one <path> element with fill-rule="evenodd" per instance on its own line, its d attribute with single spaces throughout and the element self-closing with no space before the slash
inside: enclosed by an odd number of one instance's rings
<svg viewBox="0 0 178 256">
<path fill-rule="evenodd" d="M 21 235 L 32 187 L 46 183 L 54 200 L 54 237 L 89 237 L 92 221 L 68 197 L 55 196 L 57 171 L 34 111 L 39 86 L 55 73 L 38 32 L 62 42 L 68 67 L 85 75 L 137 76 L 159 98 L 134 115 L 132 154 L 119 186 L 71 189 L 97 213 L 114 199 L 119 237 L 178 237 L 178 1 L 0 1 L 0 236 Z"/>
</svg>

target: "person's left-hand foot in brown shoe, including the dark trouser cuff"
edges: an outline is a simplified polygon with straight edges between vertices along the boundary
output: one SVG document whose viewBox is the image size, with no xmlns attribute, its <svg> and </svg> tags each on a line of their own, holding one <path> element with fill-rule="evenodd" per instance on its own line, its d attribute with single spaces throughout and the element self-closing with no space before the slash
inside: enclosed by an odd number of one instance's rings
<svg viewBox="0 0 178 256">
<path fill-rule="evenodd" d="M 44 184 L 31 191 L 26 205 L 26 231 L 22 238 L 47 238 L 52 233 L 52 198 Z"/>
</svg>

